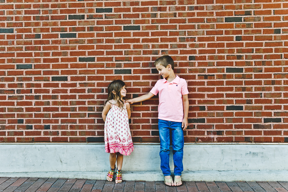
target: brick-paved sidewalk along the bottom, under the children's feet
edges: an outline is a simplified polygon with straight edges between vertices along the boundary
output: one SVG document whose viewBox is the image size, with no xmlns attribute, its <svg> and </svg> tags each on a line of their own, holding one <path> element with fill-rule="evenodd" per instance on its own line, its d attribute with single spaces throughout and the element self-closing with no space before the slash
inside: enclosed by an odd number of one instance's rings
<svg viewBox="0 0 288 192">
<path fill-rule="evenodd" d="M 184 182 L 179 187 L 161 181 L 123 181 L 66 178 L 0 178 L 0 192 L 288 192 L 288 182 Z"/>
</svg>

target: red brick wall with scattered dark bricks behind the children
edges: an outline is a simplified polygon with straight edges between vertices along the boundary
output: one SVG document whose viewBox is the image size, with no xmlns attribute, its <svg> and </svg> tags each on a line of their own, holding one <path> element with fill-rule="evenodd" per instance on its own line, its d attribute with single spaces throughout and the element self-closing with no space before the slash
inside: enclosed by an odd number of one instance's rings
<svg viewBox="0 0 288 192">
<path fill-rule="evenodd" d="M 0 141 L 103 142 L 109 82 L 145 94 L 169 54 L 186 142 L 288 142 L 287 20 L 282 0 L 0 0 Z M 157 105 L 132 105 L 134 142 L 158 142 Z"/>
</svg>

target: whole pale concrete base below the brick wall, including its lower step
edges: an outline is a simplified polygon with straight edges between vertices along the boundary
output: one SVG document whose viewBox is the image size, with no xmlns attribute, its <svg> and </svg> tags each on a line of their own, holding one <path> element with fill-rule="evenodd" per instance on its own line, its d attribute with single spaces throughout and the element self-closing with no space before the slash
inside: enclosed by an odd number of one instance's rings
<svg viewBox="0 0 288 192">
<path fill-rule="evenodd" d="M 0 176 L 105 179 L 104 144 L 0 144 Z M 125 180 L 163 180 L 160 145 L 135 144 L 124 157 Z M 288 145 L 185 144 L 183 180 L 288 181 Z M 170 154 L 170 168 L 173 157 Z"/>
</svg>

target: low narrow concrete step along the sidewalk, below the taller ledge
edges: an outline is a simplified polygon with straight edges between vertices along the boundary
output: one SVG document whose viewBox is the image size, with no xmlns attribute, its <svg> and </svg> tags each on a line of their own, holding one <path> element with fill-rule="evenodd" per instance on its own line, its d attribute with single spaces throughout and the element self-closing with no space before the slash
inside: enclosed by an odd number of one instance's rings
<svg viewBox="0 0 288 192">
<path fill-rule="evenodd" d="M 106 180 L 105 171 L 86 172 L 21 172 L 0 173 L 2 177 L 52 177 L 52 178 L 85 178 Z M 164 180 L 161 171 L 123 171 L 123 180 Z M 288 181 L 288 171 L 184 171 L 184 181 Z M 115 180 L 115 176 L 113 181 Z"/>
</svg>

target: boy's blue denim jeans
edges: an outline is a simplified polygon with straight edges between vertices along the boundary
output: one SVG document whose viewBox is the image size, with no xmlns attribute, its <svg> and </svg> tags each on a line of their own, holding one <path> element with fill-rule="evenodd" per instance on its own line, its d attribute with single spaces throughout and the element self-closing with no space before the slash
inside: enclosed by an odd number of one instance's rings
<svg viewBox="0 0 288 192">
<path fill-rule="evenodd" d="M 183 171 L 183 147 L 184 136 L 182 122 L 166 121 L 158 119 L 158 128 L 160 136 L 160 159 L 161 170 L 164 176 L 171 175 L 169 166 L 170 154 L 170 135 L 172 135 L 174 175 L 181 175 Z"/>
</svg>

